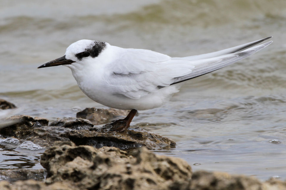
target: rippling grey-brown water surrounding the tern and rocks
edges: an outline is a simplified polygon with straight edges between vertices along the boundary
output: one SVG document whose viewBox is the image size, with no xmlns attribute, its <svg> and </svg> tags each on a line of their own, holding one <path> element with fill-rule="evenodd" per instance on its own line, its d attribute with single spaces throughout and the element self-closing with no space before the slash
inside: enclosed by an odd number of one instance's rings
<svg viewBox="0 0 286 190">
<path fill-rule="evenodd" d="M 285 0 L 0 4 L 0 98 L 20 107 L 18 114 L 50 121 L 86 107 L 106 108 L 80 91 L 68 68 L 37 69 L 77 40 L 180 57 L 274 36 L 264 50 L 188 81 L 164 106 L 139 111 L 131 124 L 175 140 L 175 149 L 158 153 L 183 158 L 193 170 L 286 178 Z M 38 153 L 7 153 L 2 146 L 0 153 L 2 169 L 41 168 Z"/>
</svg>

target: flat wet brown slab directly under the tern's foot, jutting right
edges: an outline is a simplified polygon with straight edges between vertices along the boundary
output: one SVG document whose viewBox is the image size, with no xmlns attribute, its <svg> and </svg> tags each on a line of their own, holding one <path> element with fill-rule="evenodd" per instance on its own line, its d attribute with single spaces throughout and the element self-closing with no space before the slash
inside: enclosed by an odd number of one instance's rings
<svg viewBox="0 0 286 190">
<path fill-rule="evenodd" d="M 91 128 L 93 130 L 93 128 Z M 94 129 L 97 130 L 97 129 Z M 78 130 L 69 134 L 69 139 L 76 145 L 92 145 L 96 148 L 102 146 L 117 147 L 129 150 L 145 146 L 149 149 L 175 148 L 176 143 L 167 137 L 150 133 L 141 128 L 129 128 L 124 132 Z"/>
</svg>

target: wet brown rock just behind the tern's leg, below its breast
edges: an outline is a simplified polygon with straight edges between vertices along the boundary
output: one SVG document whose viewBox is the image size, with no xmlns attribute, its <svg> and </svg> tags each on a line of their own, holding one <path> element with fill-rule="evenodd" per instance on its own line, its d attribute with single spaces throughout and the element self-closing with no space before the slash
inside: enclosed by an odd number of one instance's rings
<svg viewBox="0 0 286 190">
<path fill-rule="evenodd" d="M 125 118 L 130 110 L 86 108 L 77 113 L 77 118 L 88 119 L 94 125 L 106 124 L 119 116 Z"/>
</svg>

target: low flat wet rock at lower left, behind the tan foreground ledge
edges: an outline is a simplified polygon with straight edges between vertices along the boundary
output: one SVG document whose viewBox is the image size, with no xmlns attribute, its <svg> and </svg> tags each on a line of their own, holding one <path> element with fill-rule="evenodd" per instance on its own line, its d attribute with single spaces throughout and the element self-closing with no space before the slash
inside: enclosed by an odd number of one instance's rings
<svg viewBox="0 0 286 190">
<path fill-rule="evenodd" d="M 42 181 L 46 176 L 46 170 L 0 170 L 0 180 L 14 182 L 18 180 L 34 179 L 36 181 Z M 1 188 L 0 188 L 1 189 Z"/>
</svg>

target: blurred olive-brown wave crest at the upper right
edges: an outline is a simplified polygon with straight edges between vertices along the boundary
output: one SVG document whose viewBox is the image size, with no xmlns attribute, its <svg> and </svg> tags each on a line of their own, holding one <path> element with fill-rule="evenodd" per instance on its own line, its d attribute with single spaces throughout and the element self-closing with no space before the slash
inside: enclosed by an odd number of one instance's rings
<svg viewBox="0 0 286 190">
<path fill-rule="evenodd" d="M 261 17 L 285 17 L 286 1 L 269 0 L 181 0 L 161 1 L 127 14 L 114 15 L 136 23 L 176 23 L 209 26 Z"/>
</svg>

